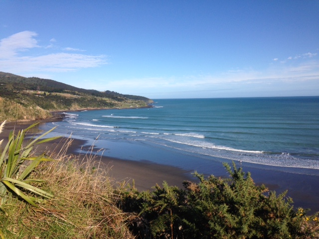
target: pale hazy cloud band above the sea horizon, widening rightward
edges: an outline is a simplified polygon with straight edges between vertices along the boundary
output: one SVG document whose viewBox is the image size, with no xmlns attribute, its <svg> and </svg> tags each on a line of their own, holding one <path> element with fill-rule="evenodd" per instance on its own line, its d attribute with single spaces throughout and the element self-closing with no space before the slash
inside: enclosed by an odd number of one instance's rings
<svg viewBox="0 0 319 239">
<path fill-rule="evenodd" d="M 82 87 L 155 99 L 319 95 L 319 60 L 316 53 L 287 57 L 284 61 L 279 61 L 279 58 L 273 60 L 276 63 L 258 71 L 251 67 L 233 68 L 219 74 L 108 79 L 85 82 Z M 193 93 L 189 93 L 189 89 Z M 218 95 L 217 92 L 221 93 Z"/>
</svg>

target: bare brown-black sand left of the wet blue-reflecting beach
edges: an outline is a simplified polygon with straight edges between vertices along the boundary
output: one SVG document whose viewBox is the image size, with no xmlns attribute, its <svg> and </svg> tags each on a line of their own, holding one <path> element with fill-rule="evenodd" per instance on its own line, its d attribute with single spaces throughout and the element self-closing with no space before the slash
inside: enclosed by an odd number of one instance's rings
<svg viewBox="0 0 319 239">
<path fill-rule="evenodd" d="M 39 122 L 39 125 L 46 122 L 52 122 L 54 120 L 32 120 L 32 121 L 22 121 L 22 122 L 8 122 L 4 125 L 2 132 L 0 133 L 0 140 L 3 139 L 2 145 L 4 146 L 7 143 L 8 135 L 11 130 L 18 131 L 25 129 L 34 122 Z M 58 118 L 55 120 L 58 121 Z M 28 135 L 34 135 L 39 133 L 38 125 L 32 128 Z M 61 137 L 53 142 L 43 143 L 39 145 L 35 152 L 50 152 L 57 154 L 60 151 L 60 148 L 63 146 L 64 142 L 67 141 L 67 137 Z M 66 154 L 77 158 L 79 161 L 86 160 L 86 154 L 88 150 L 77 150 L 81 149 L 82 146 L 86 145 L 86 140 L 72 138 L 71 145 L 67 148 Z M 116 157 L 109 157 L 105 155 L 95 155 L 99 149 L 94 148 L 92 155 L 94 161 L 100 161 L 102 163 L 103 170 L 105 170 L 115 182 L 122 183 L 126 182 L 130 185 L 135 183 L 135 187 L 139 191 L 152 190 L 152 187 L 159 184 L 161 186 L 163 181 L 166 181 L 170 186 L 178 186 L 182 188 L 182 183 L 185 180 L 192 181 L 193 177 L 191 172 L 183 170 L 178 167 L 161 165 L 153 162 L 146 161 L 132 161 L 125 160 Z"/>
</svg>

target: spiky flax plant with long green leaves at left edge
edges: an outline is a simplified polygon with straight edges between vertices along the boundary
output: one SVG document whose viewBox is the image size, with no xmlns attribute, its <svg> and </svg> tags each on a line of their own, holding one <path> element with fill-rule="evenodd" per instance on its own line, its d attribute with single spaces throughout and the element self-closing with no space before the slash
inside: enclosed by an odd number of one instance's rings
<svg viewBox="0 0 319 239">
<path fill-rule="evenodd" d="M 5 121 L 0 125 L 0 132 L 4 123 Z M 34 207 L 38 207 L 36 203 L 41 201 L 41 199 L 36 198 L 36 196 L 40 196 L 40 198 L 53 197 L 52 194 L 32 185 L 34 183 L 43 182 L 43 180 L 27 179 L 28 175 L 41 161 L 53 160 L 45 154 L 32 157 L 30 153 L 34 146 L 59 138 L 50 137 L 40 140 L 54 129 L 52 128 L 38 137 L 32 137 L 25 143 L 26 132 L 37 124 L 38 123 L 34 123 L 25 130 L 19 130 L 16 136 L 14 135 L 14 132 L 11 131 L 8 142 L 0 154 L 0 210 L 4 213 L 4 206 L 12 197 L 18 197 Z M 26 163 L 28 161 L 29 163 Z M 28 195 L 26 194 L 27 192 Z M 30 194 L 34 196 L 30 196 Z"/>
</svg>

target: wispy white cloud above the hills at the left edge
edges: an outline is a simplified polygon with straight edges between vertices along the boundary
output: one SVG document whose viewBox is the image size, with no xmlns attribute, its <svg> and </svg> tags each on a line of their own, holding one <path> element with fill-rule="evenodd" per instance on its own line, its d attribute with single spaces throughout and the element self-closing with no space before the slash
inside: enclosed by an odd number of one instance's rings
<svg viewBox="0 0 319 239">
<path fill-rule="evenodd" d="M 37 45 L 35 32 L 23 31 L 4 38 L 0 41 L 0 66 L 1 71 L 10 73 L 24 72 L 66 72 L 75 71 L 80 68 L 98 67 L 106 64 L 105 55 L 85 55 L 75 53 L 55 53 L 45 55 L 32 55 L 32 48 Z M 55 42 L 52 38 L 50 42 Z M 50 44 L 47 47 L 53 47 Z M 22 51 L 27 54 L 21 55 Z M 67 47 L 64 50 L 81 51 L 80 49 Z"/>
</svg>

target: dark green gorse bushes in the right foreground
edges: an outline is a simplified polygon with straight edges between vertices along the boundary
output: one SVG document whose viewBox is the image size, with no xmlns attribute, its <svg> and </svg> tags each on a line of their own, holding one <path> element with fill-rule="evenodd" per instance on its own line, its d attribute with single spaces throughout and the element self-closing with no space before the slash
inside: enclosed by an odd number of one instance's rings
<svg viewBox="0 0 319 239">
<path fill-rule="evenodd" d="M 141 238 L 316 238 L 318 213 L 294 211 L 286 193 L 276 196 L 256 186 L 249 173 L 224 164 L 229 179 L 194 173 L 199 183 L 185 189 L 156 186 L 152 192 L 135 188 L 122 193 L 120 207 L 134 213 L 129 223 Z"/>
</svg>

